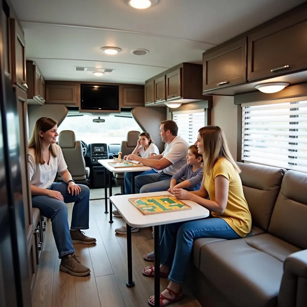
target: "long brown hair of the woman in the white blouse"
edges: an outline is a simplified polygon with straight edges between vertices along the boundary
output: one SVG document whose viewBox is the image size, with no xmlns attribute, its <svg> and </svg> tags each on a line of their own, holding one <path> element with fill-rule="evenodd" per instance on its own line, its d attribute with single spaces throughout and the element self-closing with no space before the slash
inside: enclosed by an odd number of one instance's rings
<svg viewBox="0 0 307 307">
<path fill-rule="evenodd" d="M 55 125 L 57 125 L 57 122 L 54 121 L 52 118 L 41 117 L 40 119 L 37 119 L 29 142 L 29 148 L 34 149 L 34 157 L 36 163 L 45 164 L 43 152 L 41 150 L 41 137 L 39 135 L 39 132 L 46 132 L 52 129 Z M 56 157 L 56 149 L 53 144 L 50 144 L 49 150 L 50 154 L 53 157 Z"/>
</svg>

